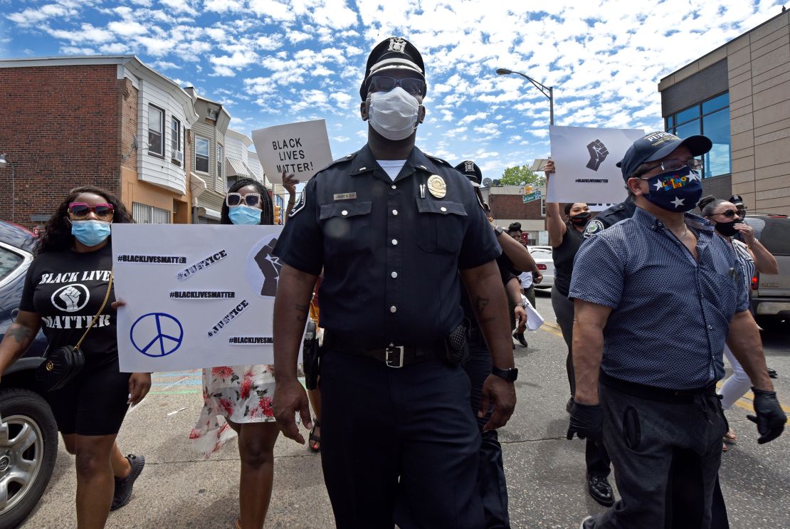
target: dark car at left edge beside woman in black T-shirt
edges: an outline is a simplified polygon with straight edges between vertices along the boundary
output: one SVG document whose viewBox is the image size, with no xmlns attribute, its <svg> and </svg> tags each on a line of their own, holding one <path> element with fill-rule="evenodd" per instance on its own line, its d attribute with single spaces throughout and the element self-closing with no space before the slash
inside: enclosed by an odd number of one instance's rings
<svg viewBox="0 0 790 529">
<path fill-rule="evenodd" d="M 0 221 L 0 332 L 19 313 L 24 274 L 36 237 Z M 17 527 L 47 488 L 58 455 L 58 428 L 47 401 L 36 391 L 33 372 L 47 342 L 36 336 L 24 356 L 0 379 L 0 527 Z"/>
</svg>

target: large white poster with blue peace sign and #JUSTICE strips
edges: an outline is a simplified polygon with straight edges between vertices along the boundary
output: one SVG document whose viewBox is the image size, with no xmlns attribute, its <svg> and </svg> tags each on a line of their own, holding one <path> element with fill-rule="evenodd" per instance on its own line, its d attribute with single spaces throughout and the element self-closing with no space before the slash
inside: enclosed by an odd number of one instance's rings
<svg viewBox="0 0 790 529">
<path fill-rule="evenodd" d="M 112 225 L 121 371 L 272 364 L 281 230 Z"/>
</svg>

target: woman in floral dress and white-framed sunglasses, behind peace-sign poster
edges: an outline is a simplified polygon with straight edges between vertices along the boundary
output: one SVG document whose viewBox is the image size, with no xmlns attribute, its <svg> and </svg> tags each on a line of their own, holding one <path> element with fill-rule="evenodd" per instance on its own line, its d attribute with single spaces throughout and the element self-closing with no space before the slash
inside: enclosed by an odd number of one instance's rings
<svg viewBox="0 0 790 529">
<path fill-rule="evenodd" d="M 283 173 L 288 209 L 295 202 L 297 180 Z M 220 224 L 272 225 L 269 191 L 258 181 L 237 180 L 228 189 Z M 203 369 L 203 410 L 190 433 L 194 447 L 209 458 L 233 433 L 239 435 L 239 518 L 237 529 L 263 527 L 274 482 L 274 443 L 280 433 L 272 412 L 274 369 L 271 365 L 234 365 Z"/>
</svg>

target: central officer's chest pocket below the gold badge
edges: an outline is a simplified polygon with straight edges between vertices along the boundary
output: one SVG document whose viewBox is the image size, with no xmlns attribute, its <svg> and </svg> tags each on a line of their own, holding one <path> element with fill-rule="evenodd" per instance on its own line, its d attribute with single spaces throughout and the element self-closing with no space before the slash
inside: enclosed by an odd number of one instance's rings
<svg viewBox="0 0 790 529">
<path fill-rule="evenodd" d="M 464 205 L 416 198 L 417 245 L 429 253 L 457 253 L 464 240 Z"/>
</svg>

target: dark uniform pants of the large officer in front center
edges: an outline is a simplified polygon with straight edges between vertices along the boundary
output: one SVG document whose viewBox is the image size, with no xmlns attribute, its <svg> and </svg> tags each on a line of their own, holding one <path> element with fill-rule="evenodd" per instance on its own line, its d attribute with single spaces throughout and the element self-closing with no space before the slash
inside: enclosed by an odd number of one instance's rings
<svg viewBox="0 0 790 529">
<path fill-rule="evenodd" d="M 480 433 L 461 366 L 322 351 L 321 454 L 338 529 L 480 529 Z"/>
</svg>

